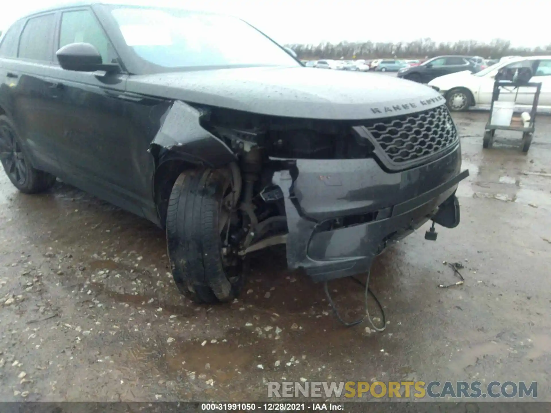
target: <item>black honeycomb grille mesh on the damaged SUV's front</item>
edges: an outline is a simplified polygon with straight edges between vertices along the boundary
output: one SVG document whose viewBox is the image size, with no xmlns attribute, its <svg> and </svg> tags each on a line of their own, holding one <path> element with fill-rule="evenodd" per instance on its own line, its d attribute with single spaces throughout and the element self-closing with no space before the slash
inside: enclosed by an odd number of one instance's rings
<svg viewBox="0 0 551 413">
<path fill-rule="evenodd" d="M 365 127 L 395 164 L 420 160 L 458 140 L 457 129 L 444 105 L 412 115 L 376 119 Z"/>
</svg>

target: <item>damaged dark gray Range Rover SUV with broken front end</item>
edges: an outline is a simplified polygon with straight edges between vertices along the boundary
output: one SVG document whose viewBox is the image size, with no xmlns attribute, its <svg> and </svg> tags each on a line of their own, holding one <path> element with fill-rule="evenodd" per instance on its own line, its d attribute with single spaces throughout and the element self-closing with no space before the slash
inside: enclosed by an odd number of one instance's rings
<svg viewBox="0 0 551 413">
<path fill-rule="evenodd" d="M 461 147 L 436 91 L 304 67 L 244 21 L 78 4 L 0 43 L 0 156 L 21 192 L 56 177 L 166 229 L 196 302 L 232 300 L 247 254 L 314 281 L 368 271 L 428 220 L 459 222 Z M 434 225 L 426 238 L 435 239 Z"/>
</svg>

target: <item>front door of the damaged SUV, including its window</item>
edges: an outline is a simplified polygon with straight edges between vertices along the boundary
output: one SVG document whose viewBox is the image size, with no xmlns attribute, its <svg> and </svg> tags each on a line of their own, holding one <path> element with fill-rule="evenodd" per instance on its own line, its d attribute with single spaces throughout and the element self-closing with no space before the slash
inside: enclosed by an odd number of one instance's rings
<svg viewBox="0 0 551 413">
<path fill-rule="evenodd" d="M 103 62 L 117 54 L 89 8 L 64 10 L 56 47 L 74 42 L 95 46 Z M 153 138 L 145 123 L 150 105 L 126 91 L 126 73 L 89 73 L 56 66 L 47 81 L 56 96 L 56 139 L 65 179 L 138 215 L 152 205 Z M 149 181 L 148 178 L 149 177 Z"/>
</svg>

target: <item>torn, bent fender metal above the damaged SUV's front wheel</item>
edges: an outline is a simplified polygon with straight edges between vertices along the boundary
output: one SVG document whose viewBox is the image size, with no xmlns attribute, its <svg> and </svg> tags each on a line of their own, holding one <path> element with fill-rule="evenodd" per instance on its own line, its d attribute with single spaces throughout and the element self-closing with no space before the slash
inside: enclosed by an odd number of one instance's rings
<svg viewBox="0 0 551 413">
<path fill-rule="evenodd" d="M 193 164 L 218 168 L 235 161 L 236 156 L 222 140 L 201 126 L 203 112 L 182 101 L 175 101 L 149 150 L 175 152 L 181 159 Z"/>
</svg>

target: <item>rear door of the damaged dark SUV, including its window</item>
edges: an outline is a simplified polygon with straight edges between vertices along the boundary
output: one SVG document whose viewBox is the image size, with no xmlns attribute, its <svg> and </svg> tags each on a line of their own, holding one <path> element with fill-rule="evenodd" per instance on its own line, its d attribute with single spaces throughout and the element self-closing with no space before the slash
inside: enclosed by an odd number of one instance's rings
<svg viewBox="0 0 551 413">
<path fill-rule="evenodd" d="M 45 70 L 53 64 L 56 15 L 56 12 L 50 12 L 23 20 L 17 57 L 5 59 L 2 67 L 6 71 L 4 84 L 9 88 L 3 99 L 9 100 L 9 116 L 29 151 L 33 165 L 58 175 L 59 163 L 52 137 L 56 114 L 52 106 L 51 84 L 44 76 Z"/>
</svg>

